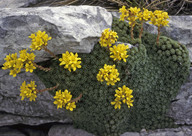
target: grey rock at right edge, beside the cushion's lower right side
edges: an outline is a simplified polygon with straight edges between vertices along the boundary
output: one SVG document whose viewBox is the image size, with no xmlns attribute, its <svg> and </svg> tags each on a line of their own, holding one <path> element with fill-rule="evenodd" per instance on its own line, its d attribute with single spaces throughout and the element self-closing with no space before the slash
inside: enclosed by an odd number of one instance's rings
<svg viewBox="0 0 192 136">
<path fill-rule="evenodd" d="M 168 112 L 176 124 L 192 124 L 192 68 L 190 71 L 188 82 L 181 87 Z"/>
</svg>

